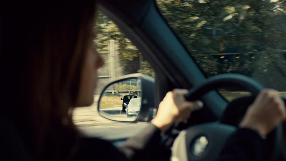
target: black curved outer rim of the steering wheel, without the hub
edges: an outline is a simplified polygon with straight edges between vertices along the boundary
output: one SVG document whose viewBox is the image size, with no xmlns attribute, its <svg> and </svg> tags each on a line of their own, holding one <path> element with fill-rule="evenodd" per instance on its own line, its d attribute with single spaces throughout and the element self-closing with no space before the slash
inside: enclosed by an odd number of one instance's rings
<svg viewBox="0 0 286 161">
<path fill-rule="evenodd" d="M 240 74 L 220 74 L 208 78 L 206 82 L 189 90 L 188 94 L 185 95 L 185 98 L 187 101 L 195 101 L 209 91 L 226 86 L 243 87 L 252 94 L 252 97 L 256 97 L 259 92 L 263 90 L 263 86 L 260 83 L 247 76 Z M 273 132 L 274 138 L 272 140 L 274 140 L 274 143 L 272 147 L 272 155 L 270 158 L 272 161 L 276 161 L 279 158 L 279 152 L 281 149 L 281 144 L 279 143 L 281 140 L 283 140 L 281 124 L 277 125 Z"/>
</svg>

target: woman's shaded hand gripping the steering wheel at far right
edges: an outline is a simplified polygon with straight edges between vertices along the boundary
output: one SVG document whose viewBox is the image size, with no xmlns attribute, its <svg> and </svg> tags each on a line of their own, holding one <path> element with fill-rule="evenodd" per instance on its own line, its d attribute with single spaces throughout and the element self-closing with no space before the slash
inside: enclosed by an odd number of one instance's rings
<svg viewBox="0 0 286 161">
<path fill-rule="evenodd" d="M 280 94 L 276 90 L 266 89 L 249 106 L 239 126 L 252 129 L 264 137 L 285 118 L 285 104 Z"/>
</svg>

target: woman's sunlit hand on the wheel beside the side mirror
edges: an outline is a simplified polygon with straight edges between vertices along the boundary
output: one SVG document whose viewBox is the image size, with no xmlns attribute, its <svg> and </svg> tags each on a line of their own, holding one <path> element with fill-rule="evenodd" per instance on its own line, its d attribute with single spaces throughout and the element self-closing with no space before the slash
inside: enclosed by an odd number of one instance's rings
<svg viewBox="0 0 286 161">
<path fill-rule="evenodd" d="M 182 122 L 190 118 L 191 112 L 201 109 L 201 101 L 186 101 L 186 89 L 169 91 L 160 102 L 156 117 L 151 121 L 161 132 L 166 132 L 175 122 Z"/>
</svg>

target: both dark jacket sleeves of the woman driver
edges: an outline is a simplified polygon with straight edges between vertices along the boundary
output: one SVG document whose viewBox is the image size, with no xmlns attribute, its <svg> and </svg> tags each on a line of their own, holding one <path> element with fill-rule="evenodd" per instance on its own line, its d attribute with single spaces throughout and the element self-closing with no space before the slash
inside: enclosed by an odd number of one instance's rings
<svg viewBox="0 0 286 161">
<path fill-rule="evenodd" d="M 76 160 L 147 160 L 158 152 L 160 131 L 150 124 L 144 132 L 127 140 L 120 149 L 100 139 L 83 139 Z M 265 140 L 256 132 L 240 128 L 226 142 L 218 161 L 266 161 Z"/>
</svg>

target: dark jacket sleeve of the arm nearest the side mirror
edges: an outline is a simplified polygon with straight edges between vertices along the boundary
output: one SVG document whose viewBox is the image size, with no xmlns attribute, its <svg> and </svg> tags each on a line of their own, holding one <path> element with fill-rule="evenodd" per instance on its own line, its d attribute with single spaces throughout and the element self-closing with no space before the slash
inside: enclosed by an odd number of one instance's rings
<svg viewBox="0 0 286 161">
<path fill-rule="evenodd" d="M 132 137 L 119 149 L 102 139 L 81 139 L 74 160 L 128 161 L 147 160 L 159 148 L 161 134 L 155 125 L 148 125 L 139 135 Z"/>
</svg>

